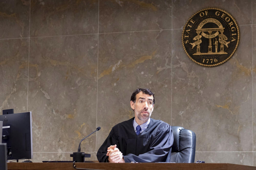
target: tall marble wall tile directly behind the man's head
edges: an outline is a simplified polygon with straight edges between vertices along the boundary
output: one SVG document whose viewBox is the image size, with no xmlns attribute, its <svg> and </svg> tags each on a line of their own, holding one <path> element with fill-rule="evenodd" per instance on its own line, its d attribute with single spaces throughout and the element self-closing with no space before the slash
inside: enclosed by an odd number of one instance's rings
<svg viewBox="0 0 256 170">
<path fill-rule="evenodd" d="M 134 117 L 137 88 L 155 93 L 151 117 L 170 123 L 171 31 L 101 34 L 99 41 L 97 148 L 115 124 Z"/>
</svg>

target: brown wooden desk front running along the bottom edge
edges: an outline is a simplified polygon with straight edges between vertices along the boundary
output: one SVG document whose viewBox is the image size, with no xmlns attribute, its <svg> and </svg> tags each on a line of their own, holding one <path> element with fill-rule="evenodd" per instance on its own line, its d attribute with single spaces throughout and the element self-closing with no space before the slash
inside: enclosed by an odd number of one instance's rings
<svg viewBox="0 0 256 170">
<path fill-rule="evenodd" d="M 75 163 L 77 168 L 89 169 L 177 169 L 177 170 L 210 170 L 210 169 L 245 169 L 255 170 L 256 166 L 237 165 L 229 163 Z M 8 170 L 74 170 L 73 163 L 7 163 Z"/>
</svg>

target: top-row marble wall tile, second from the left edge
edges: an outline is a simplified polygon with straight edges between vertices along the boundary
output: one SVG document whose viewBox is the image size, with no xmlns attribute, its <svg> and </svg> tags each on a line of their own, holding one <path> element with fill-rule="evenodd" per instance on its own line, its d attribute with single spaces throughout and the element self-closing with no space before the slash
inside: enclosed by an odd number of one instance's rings
<svg viewBox="0 0 256 170">
<path fill-rule="evenodd" d="M 98 33 L 98 1 L 31 1 L 31 37 L 92 33 Z"/>
</svg>

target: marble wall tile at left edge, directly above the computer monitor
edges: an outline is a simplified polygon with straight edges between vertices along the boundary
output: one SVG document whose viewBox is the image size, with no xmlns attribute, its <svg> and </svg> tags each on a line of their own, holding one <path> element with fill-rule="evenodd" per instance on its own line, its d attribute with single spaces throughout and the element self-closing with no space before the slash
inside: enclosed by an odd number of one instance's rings
<svg viewBox="0 0 256 170">
<path fill-rule="evenodd" d="M 28 39 L 0 40 L 0 111 L 27 111 Z"/>
</svg>

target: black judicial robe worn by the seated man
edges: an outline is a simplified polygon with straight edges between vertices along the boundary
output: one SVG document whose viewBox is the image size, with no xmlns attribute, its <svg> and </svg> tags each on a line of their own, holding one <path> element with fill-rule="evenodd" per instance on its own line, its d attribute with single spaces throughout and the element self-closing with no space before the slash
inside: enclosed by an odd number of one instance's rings
<svg viewBox="0 0 256 170">
<path fill-rule="evenodd" d="M 107 148 L 115 145 L 125 162 L 165 162 L 173 145 L 172 127 L 150 118 L 148 127 L 138 136 L 133 128 L 134 117 L 115 125 L 97 152 L 99 162 L 106 162 Z"/>
</svg>

